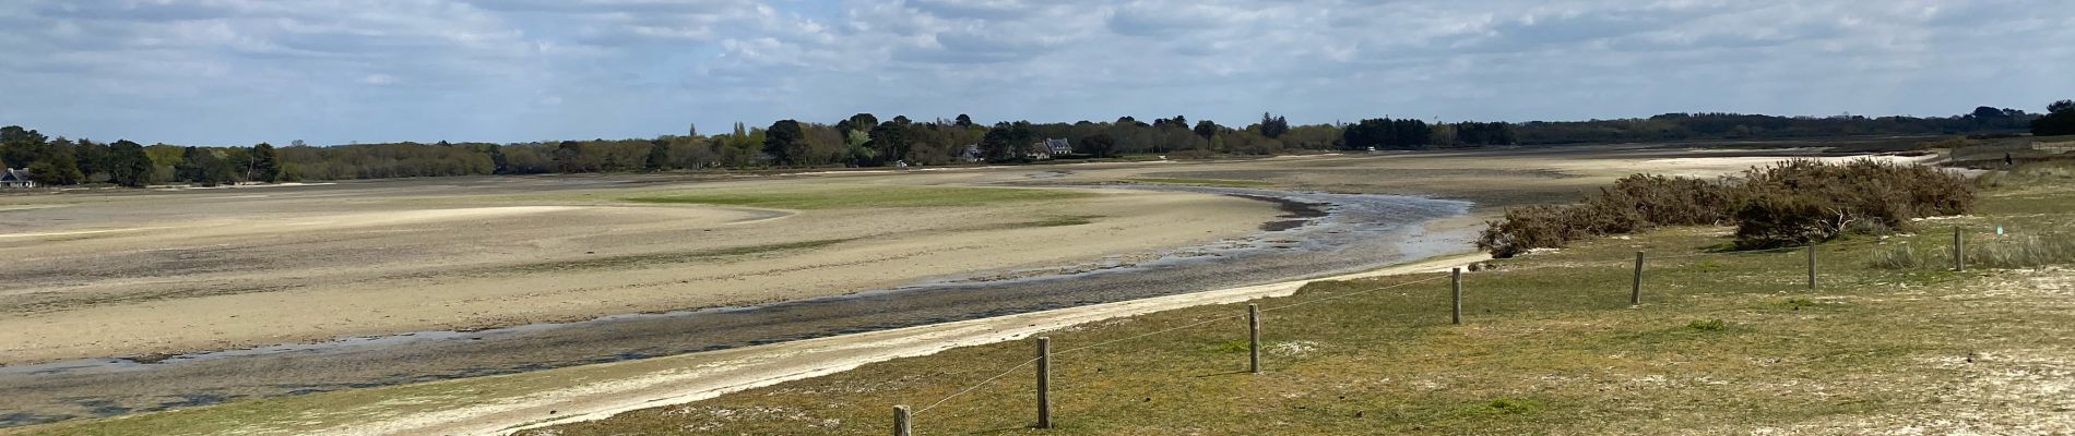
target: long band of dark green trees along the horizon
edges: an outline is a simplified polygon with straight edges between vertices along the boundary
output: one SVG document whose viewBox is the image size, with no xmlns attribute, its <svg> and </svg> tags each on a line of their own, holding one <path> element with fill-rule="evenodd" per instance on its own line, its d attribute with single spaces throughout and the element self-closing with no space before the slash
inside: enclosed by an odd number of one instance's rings
<svg viewBox="0 0 2075 436">
<path fill-rule="evenodd" d="M 1704 138 L 1820 138 L 1855 134 L 2040 134 L 2075 130 L 2075 103 L 2058 101 L 2048 116 L 1975 107 L 1942 118 L 1913 116 L 1745 116 L 1662 114 L 1585 122 L 1426 122 L 1374 118 L 1353 124 L 1291 126 L 1262 114 L 1247 126 L 1212 120 L 1116 118 L 1114 122 L 996 122 L 969 116 L 917 122 L 857 114 L 832 124 L 780 120 L 701 134 L 656 138 L 593 138 L 544 143 L 382 143 L 311 147 L 181 147 L 133 141 L 50 138 L 21 126 L 0 128 L 0 165 L 25 167 L 46 186 L 68 184 L 237 184 L 359 178 L 430 178 L 483 174 L 585 174 L 764 167 L 886 167 L 948 163 L 1017 163 L 1054 157 L 1044 143 L 1064 138 L 1056 157 L 1276 155 L 1284 151 L 1453 149 L 1492 145 L 1581 145 Z M 2044 128 L 2044 130 L 2042 130 Z"/>
</svg>

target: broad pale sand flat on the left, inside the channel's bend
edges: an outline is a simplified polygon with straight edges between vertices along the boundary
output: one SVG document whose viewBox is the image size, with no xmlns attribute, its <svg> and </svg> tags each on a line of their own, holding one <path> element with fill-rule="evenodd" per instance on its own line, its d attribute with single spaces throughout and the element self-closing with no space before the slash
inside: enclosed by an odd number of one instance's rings
<svg viewBox="0 0 2075 436">
<path fill-rule="evenodd" d="M 596 200 L 672 186 L 544 198 L 502 198 L 510 194 L 504 186 L 483 194 L 398 194 L 409 184 L 79 196 L 58 198 L 71 200 L 66 207 L 10 209 L 0 227 L 0 258 L 10 258 L 0 264 L 0 277 L 8 277 L 0 289 L 0 364 L 838 295 L 1201 244 L 1253 233 L 1276 215 L 1268 203 L 1174 192 L 751 211 Z M 768 186 L 786 184 L 795 182 Z M 1000 227 L 1046 217 L 1096 219 Z M 845 242 L 670 262 L 610 260 L 826 240 Z"/>
</svg>

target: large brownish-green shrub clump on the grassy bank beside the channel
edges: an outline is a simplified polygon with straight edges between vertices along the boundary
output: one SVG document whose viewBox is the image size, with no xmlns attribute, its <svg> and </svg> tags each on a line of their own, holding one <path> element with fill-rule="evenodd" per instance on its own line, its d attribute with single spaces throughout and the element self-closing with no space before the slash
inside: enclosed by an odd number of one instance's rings
<svg viewBox="0 0 2075 436">
<path fill-rule="evenodd" d="M 1973 186 L 1957 174 L 1874 159 L 1782 161 L 1745 172 L 1741 184 L 1637 174 L 1583 205 L 1506 211 L 1477 248 L 1506 258 L 1594 236 L 1720 223 L 1737 223 L 1739 248 L 1776 248 L 1909 229 L 1909 219 L 1961 215 L 1973 200 Z"/>
</svg>

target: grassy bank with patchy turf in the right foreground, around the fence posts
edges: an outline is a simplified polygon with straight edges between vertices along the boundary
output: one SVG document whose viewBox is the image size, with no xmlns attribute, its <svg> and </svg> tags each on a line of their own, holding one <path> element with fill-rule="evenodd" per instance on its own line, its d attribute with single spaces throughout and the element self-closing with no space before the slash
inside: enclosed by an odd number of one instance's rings
<svg viewBox="0 0 2075 436">
<path fill-rule="evenodd" d="M 1720 227 L 1592 240 L 1467 273 L 1461 326 L 1448 324 L 1438 275 L 1318 283 L 1257 302 L 1272 308 L 1264 374 L 1245 372 L 1241 306 L 1056 331 L 1052 430 L 1027 428 L 1035 393 L 1017 364 L 1031 343 L 1017 341 L 531 434 L 884 434 L 892 405 L 923 409 L 975 384 L 917 413 L 917 432 L 2075 432 L 2071 273 L 1876 262 L 1899 244 L 1951 248 L 1953 225 L 1982 244 L 1996 242 L 1996 225 L 2002 238 L 2065 231 L 2069 186 L 1994 188 L 1982 213 L 1924 223 L 1940 231 L 1822 246 L 1818 289 L 1805 285 L 1805 252 L 1712 252 L 1728 240 Z M 1652 260 L 1631 308 L 1635 250 Z"/>
</svg>

